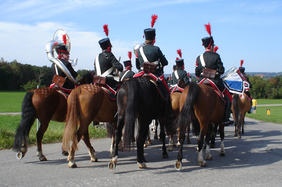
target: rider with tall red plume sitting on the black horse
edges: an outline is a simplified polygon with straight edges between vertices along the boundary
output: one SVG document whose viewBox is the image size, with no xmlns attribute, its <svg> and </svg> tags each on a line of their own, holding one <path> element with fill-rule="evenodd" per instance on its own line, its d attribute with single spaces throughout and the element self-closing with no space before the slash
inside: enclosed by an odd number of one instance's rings
<svg viewBox="0 0 282 187">
<path fill-rule="evenodd" d="M 168 85 L 164 78 L 164 66 L 168 65 L 168 61 L 163 55 L 162 51 L 159 47 L 154 46 L 156 42 L 156 30 L 153 29 L 153 26 L 155 24 L 155 21 L 158 19 L 157 15 L 152 16 L 152 29 L 145 29 L 144 35 L 145 35 L 145 46 L 140 47 L 136 51 L 136 68 L 139 70 L 138 73 L 136 73 L 133 77 L 139 77 L 142 76 L 145 71 L 143 71 L 143 63 L 144 62 L 150 62 L 157 64 L 156 73 L 149 73 L 156 81 L 159 88 L 164 93 L 164 96 L 166 98 L 166 108 L 165 108 L 165 115 L 170 116 L 170 91 L 168 88 Z M 171 116 L 173 117 L 173 116 Z"/>
</svg>

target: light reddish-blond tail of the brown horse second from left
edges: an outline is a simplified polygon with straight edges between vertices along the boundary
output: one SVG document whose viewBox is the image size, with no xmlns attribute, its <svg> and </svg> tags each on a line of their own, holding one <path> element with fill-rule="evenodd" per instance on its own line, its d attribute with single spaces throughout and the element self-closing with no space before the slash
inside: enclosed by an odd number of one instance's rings
<svg viewBox="0 0 282 187">
<path fill-rule="evenodd" d="M 79 96 L 81 93 L 81 88 L 78 87 L 69 94 L 67 98 L 67 115 L 66 122 L 64 126 L 64 133 L 62 137 L 62 150 L 70 150 L 70 141 L 73 142 L 72 148 L 77 149 L 78 139 L 77 139 L 77 127 L 80 122 L 79 117 Z"/>
</svg>

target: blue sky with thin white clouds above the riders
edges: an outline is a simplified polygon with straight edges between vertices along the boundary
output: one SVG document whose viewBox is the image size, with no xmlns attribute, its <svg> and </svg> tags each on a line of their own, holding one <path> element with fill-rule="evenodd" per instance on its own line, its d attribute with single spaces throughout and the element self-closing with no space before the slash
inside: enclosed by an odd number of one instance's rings
<svg viewBox="0 0 282 187">
<path fill-rule="evenodd" d="M 151 16 L 157 14 L 155 46 L 169 62 L 165 74 L 172 73 L 178 49 L 185 70 L 194 73 L 208 23 L 226 71 L 238 68 L 241 60 L 246 72 L 282 71 L 280 0 L 0 0 L 0 10 L 0 58 L 8 62 L 51 66 L 45 46 L 63 29 L 70 38 L 70 59 L 78 58 L 75 70 L 93 70 L 107 24 L 112 53 L 122 63 L 129 60 L 128 51 L 145 42 L 144 29 L 151 28 Z"/>
</svg>

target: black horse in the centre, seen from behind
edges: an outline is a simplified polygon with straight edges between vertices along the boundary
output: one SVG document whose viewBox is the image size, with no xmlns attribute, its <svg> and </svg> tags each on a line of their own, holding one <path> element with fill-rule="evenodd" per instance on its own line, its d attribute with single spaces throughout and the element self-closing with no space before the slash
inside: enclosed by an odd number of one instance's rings
<svg viewBox="0 0 282 187">
<path fill-rule="evenodd" d="M 153 119 L 157 119 L 161 126 L 165 126 L 168 134 L 171 134 L 172 122 L 162 115 L 165 101 L 160 95 L 155 83 L 147 78 L 131 78 L 123 85 L 117 94 L 118 121 L 116 129 L 116 145 L 119 143 L 123 133 L 123 147 L 130 151 L 133 149 L 134 140 L 136 140 L 137 163 L 139 168 L 147 168 L 144 157 L 144 142 L 149 135 L 149 125 Z M 135 127 L 137 135 L 134 137 Z M 165 145 L 165 133 L 160 134 L 163 146 L 162 156 L 168 157 Z M 118 146 L 115 145 L 114 155 L 109 162 L 108 167 L 114 170 L 118 159 Z"/>
</svg>

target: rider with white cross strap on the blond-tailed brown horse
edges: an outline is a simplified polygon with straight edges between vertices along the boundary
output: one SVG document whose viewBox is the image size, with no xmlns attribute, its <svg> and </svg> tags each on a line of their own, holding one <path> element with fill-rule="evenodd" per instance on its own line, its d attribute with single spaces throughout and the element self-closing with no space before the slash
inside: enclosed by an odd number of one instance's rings
<svg viewBox="0 0 282 187">
<path fill-rule="evenodd" d="M 104 32 L 108 37 L 108 25 L 104 25 Z M 112 44 L 109 38 L 104 38 L 99 42 L 100 47 L 102 48 L 102 53 L 100 53 L 94 62 L 96 75 L 106 78 L 105 87 L 113 92 L 115 95 L 117 94 L 120 85 L 114 79 L 115 69 L 122 72 L 123 66 L 119 63 L 119 61 L 112 54 Z"/>
</svg>

